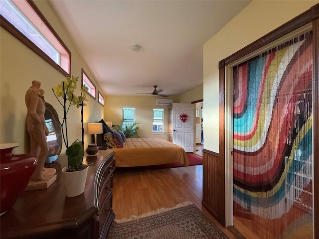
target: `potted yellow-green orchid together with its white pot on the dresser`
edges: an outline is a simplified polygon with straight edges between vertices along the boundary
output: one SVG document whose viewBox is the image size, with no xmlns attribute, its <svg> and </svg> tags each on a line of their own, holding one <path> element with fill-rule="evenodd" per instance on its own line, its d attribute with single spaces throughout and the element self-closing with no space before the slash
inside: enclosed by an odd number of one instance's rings
<svg viewBox="0 0 319 239">
<path fill-rule="evenodd" d="M 63 121 L 59 121 L 62 128 L 63 142 L 66 146 L 65 154 L 68 157 L 68 166 L 62 169 L 62 176 L 67 197 L 75 197 L 84 192 L 88 165 L 83 164 L 84 156 L 84 128 L 83 128 L 83 106 L 87 101 L 88 88 L 81 87 L 80 96 L 75 96 L 78 77 L 67 77 L 59 85 L 52 88 L 53 94 L 63 107 Z M 59 100 L 62 98 L 62 101 Z M 76 106 L 81 110 L 82 140 L 75 140 L 71 145 L 68 141 L 67 113 L 70 106 Z"/>
</svg>

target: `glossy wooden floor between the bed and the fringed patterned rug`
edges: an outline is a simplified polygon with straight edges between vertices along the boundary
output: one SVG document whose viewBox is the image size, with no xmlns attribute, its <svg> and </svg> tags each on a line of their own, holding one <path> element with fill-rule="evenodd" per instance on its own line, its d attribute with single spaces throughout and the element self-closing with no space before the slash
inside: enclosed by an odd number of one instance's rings
<svg viewBox="0 0 319 239">
<path fill-rule="evenodd" d="M 115 218 L 139 216 L 190 201 L 228 238 L 236 239 L 201 207 L 202 173 L 202 165 L 157 170 L 148 167 L 116 168 L 113 181 Z"/>
</svg>

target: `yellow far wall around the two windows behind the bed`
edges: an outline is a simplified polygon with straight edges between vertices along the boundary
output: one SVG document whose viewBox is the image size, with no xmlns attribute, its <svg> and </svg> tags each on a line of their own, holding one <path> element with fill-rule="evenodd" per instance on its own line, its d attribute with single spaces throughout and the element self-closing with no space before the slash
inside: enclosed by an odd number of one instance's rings
<svg viewBox="0 0 319 239">
<path fill-rule="evenodd" d="M 112 121 L 112 124 L 122 123 L 122 110 L 123 107 L 135 107 L 135 119 L 139 124 L 140 137 L 160 137 L 168 140 L 168 122 L 169 114 L 167 106 L 157 106 L 154 96 L 106 96 L 105 97 L 105 121 Z M 168 97 L 165 99 L 173 99 L 174 103 L 176 98 Z M 164 133 L 152 133 L 153 129 L 153 109 L 164 109 Z"/>
</svg>

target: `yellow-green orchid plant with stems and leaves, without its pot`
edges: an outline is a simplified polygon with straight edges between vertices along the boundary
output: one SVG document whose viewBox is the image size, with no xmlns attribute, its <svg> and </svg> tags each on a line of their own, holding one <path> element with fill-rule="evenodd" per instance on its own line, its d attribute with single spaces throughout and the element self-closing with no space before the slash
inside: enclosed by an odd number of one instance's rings
<svg viewBox="0 0 319 239">
<path fill-rule="evenodd" d="M 76 90 L 76 84 L 78 77 L 66 77 L 62 80 L 59 85 L 52 88 L 55 98 L 58 100 L 60 105 L 63 107 L 63 120 L 59 120 L 62 128 L 62 137 L 66 146 L 65 154 L 68 156 L 68 171 L 79 171 L 82 169 L 82 162 L 84 156 L 84 128 L 83 128 L 83 107 L 86 106 L 84 101 L 87 101 L 88 88 L 84 85 L 81 87 L 80 96 L 75 96 L 74 91 Z M 59 100 L 62 98 L 62 101 Z M 68 142 L 68 128 L 67 128 L 67 113 L 69 112 L 70 106 L 76 106 L 81 110 L 81 130 L 82 140 L 75 140 L 70 146 Z"/>
</svg>

